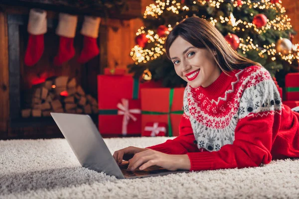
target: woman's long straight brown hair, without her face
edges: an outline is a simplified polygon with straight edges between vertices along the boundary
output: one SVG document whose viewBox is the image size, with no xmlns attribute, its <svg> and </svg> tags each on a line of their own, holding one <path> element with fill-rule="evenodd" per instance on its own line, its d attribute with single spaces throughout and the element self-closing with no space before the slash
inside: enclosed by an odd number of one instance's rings
<svg viewBox="0 0 299 199">
<path fill-rule="evenodd" d="M 247 59 L 238 54 L 225 40 L 223 35 L 210 22 L 199 17 L 189 17 L 178 23 L 170 31 L 165 42 L 166 55 L 168 59 L 169 48 L 178 37 L 192 44 L 196 48 L 206 48 L 211 53 L 215 51 L 215 62 L 223 71 L 244 69 L 248 66 L 261 66 L 261 64 Z"/>
</svg>

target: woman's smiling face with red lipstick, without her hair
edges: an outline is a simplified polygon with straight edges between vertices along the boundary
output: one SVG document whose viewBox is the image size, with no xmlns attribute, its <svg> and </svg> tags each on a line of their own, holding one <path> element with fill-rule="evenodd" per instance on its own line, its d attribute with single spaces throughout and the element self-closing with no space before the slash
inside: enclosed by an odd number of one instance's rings
<svg viewBox="0 0 299 199">
<path fill-rule="evenodd" d="M 176 74 L 192 88 L 208 87 L 220 76 L 214 55 L 206 48 L 195 48 L 180 36 L 171 44 L 169 55 Z"/>
</svg>

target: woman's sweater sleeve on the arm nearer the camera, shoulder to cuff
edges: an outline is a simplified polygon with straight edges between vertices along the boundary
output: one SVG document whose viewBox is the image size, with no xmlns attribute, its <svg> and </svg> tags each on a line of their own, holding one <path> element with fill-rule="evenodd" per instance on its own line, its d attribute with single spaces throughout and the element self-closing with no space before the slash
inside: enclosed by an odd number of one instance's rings
<svg viewBox="0 0 299 199">
<path fill-rule="evenodd" d="M 219 151 L 187 153 L 190 171 L 256 167 L 272 160 L 272 142 L 280 126 L 280 95 L 267 72 L 247 79 L 233 144 Z"/>
</svg>

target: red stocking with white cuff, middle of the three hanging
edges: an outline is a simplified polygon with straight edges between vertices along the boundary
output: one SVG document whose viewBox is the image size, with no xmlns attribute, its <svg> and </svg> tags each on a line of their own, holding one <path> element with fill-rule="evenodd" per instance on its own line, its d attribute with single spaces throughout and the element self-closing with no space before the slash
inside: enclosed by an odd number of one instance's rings
<svg viewBox="0 0 299 199">
<path fill-rule="evenodd" d="M 77 27 L 77 16 L 59 13 L 59 23 L 56 34 L 59 35 L 59 49 L 54 57 L 54 65 L 61 66 L 75 55 L 74 37 Z"/>
</svg>

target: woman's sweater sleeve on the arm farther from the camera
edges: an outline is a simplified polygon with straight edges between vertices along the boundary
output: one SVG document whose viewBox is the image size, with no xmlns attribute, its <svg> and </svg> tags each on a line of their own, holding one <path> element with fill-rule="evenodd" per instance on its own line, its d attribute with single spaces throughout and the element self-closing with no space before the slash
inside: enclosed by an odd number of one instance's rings
<svg viewBox="0 0 299 199">
<path fill-rule="evenodd" d="M 188 87 L 188 86 L 187 86 Z M 197 145 L 193 143 L 195 140 L 191 123 L 188 116 L 188 100 L 187 100 L 187 87 L 184 91 L 184 113 L 179 124 L 179 136 L 172 140 L 154 146 L 147 147 L 156 151 L 167 154 L 186 154 L 188 152 L 199 151 Z"/>
</svg>

